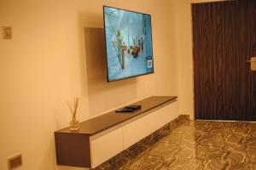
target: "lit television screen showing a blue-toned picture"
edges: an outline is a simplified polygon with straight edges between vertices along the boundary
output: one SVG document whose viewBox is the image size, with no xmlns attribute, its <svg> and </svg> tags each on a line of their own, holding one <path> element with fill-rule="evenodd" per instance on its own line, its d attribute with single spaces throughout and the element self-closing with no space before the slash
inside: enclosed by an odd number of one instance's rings
<svg viewBox="0 0 256 170">
<path fill-rule="evenodd" d="M 108 82 L 154 72 L 150 14 L 104 6 Z"/>
</svg>

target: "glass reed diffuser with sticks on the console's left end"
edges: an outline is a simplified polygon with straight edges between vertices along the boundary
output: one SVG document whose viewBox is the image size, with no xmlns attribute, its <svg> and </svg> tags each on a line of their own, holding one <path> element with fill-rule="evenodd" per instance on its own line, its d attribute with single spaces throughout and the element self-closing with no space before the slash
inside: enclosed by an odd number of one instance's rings
<svg viewBox="0 0 256 170">
<path fill-rule="evenodd" d="M 71 131 L 79 130 L 79 121 L 76 118 L 78 105 L 79 105 L 79 98 L 74 98 L 73 102 L 67 100 L 67 106 L 72 115 L 72 120 L 70 121 L 70 130 Z"/>
</svg>

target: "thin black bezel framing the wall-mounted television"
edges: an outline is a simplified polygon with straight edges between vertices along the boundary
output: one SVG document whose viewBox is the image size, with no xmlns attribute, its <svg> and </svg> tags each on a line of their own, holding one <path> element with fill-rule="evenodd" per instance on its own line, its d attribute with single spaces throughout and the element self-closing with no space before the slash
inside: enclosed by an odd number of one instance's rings
<svg viewBox="0 0 256 170">
<path fill-rule="evenodd" d="M 138 75 L 134 75 L 134 76 L 131 76 L 131 77 L 123 77 L 123 78 L 119 78 L 119 79 L 114 79 L 114 80 L 109 80 L 108 79 L 108 52 L 107 52 L 107 38 L 106 38 L 106 27 L 105 27 L 105 7 L 107 8 L 116 8 L 116 7 L 110 7 L 110 6 L 107 6 L 107 5 L 103 5 L 103 26 L 104 26 L 104 40 L 105 40 L 105 57 L 106 57 L 106 66 L 107 66 L 107 80 L 108 82 L 116 82 L 116 81 L 119 81 L 119 80 L 125 80 L 125 79 L 128 79 L 128 78 L 133 78 L 133 77 L 141 77 L 141 76 L 145 76 L 145 75 L 149 75 L 149 74 L 153 74 L 154 73 L 154 53 L 153 53 L 153 37 L 152 37 L 152 21 L 151 21 L 151 14 L 147 14 L 149 15 L 150 17 L 150 27 L 151 27 L 151 44 L 152 44 L 152 67 L 153 67 L 153 71 L 152 72 L 149 72 L 149 73 L 145 73 L 145 74 L 138 74 Z M 137 11 L 132 11 L 132 10 L 127 10 L 127 9 L 123 9 L 123 8 L 116 8 L 116 9 L 119 9 L 119 10 L 124 10 L 124 11 L 128 11 L 128 12 L 132 12 L 132 13 L 137 13 L 137 14 L 145 14 L 145 13 L 140 13 L 140 12 L 137 12 Z"/>
</svg>

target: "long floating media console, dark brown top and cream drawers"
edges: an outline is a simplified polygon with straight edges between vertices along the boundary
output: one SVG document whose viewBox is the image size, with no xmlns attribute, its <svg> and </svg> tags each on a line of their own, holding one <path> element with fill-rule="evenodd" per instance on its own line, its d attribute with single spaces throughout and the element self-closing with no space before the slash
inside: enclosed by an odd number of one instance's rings
<svg viewBox="0 0 256 170">
<path fill-rule="evenodd" d="M 80 123 L 79 131 L 69 127 L 55 132 L 58 165 L 97 167 L 177 118 L 176 96 L 152 96 L 132 105 L 132 113 L 110 111 Z"/>
</svg>

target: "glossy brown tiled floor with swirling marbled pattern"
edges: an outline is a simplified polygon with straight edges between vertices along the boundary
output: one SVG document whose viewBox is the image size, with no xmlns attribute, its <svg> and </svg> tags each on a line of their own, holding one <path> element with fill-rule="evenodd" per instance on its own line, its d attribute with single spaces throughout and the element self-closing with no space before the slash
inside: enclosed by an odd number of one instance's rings
<svg viewBox="0 0 256 170">
<path fill-rule="evenodd" d="M 256 170 L 256 123 L 189 122 L 118 169 Z"/>
</svg>

